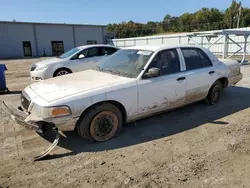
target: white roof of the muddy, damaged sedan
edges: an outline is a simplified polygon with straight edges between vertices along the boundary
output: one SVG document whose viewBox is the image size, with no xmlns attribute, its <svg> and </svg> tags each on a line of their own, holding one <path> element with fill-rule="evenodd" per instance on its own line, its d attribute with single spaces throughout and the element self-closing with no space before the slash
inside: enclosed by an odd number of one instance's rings
<svg viewBox="0 0 250 188">
<path fill-rule="evenodd" d="M 170 49 L 170 48 L 201 48 L 200 46 L 195 45 L 140 45 L 140 46 L 130 46 L 122 49 L 136 49 L 136 50 L 149 50 L 149 51 L 158 51 L 161 49 Z"/>
</svg>

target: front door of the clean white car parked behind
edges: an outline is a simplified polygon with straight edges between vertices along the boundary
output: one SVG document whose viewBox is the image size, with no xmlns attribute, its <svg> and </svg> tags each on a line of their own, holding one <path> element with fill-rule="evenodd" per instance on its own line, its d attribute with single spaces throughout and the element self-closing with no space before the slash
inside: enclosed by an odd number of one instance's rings
<svg viewBox="0 0 250 188">
<path fill-rule="evenodd" d="M 100 47 L 90 47 L 82 50 L 79 54 L 77 54 L 75 57 L 76 59 L 71 60 L 71 70 L 73 70 L 73 72 L 78 72 L 95 68 L 101 56 L 100 50 Z"/>
</svg>

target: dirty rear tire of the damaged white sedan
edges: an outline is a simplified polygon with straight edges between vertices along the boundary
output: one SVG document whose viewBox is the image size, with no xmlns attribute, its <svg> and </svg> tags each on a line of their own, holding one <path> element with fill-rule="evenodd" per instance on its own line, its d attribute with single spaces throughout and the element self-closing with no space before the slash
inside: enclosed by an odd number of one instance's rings
<svg viewBox="0 0 250 188">
<path fill-rule="evenodd" d="M 210 105 L 219 103 L 223 92 L 223 87 L 221 82 L 216 81 L 214 85 L 210 88 L 205 102 Z"/>
</svg>

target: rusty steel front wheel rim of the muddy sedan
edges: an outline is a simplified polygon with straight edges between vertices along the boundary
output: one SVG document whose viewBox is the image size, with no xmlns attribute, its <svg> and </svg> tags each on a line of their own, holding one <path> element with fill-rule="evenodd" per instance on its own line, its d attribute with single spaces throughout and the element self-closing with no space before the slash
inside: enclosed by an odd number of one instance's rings
<svg viewBox="0 0 250 188">
<path fill-rule="evenodd" d="M 96 141 L 106 141 L 114 136 L 118 128 L 118 119 L 113 112 L 103 111 L 97 114 L 90 124 L 90 134 Z"/>
</svg>

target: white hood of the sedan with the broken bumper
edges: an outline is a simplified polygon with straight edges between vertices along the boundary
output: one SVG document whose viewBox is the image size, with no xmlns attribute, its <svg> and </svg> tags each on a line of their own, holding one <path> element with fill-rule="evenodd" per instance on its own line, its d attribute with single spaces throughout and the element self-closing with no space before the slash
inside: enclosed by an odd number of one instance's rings
<svg viewBox="0 0 250 188">
<path fill-rule="evenodd" d="M 33 83 L 30 88 L 47 102 L 52 102 L 71 95 L 85 93 L 130 81 L 121 77 L 96 70 L 86 70 Z"/>
</svg>

